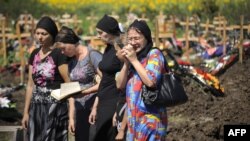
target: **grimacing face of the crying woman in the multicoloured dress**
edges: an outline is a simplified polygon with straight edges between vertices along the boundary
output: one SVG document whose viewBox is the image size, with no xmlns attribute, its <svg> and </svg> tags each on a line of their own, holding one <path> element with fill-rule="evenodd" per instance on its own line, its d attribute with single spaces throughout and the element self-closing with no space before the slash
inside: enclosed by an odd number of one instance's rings
<svg viewBox="0 0 250 141">
<path fill-rule="evenodd" d="M 147 44 L 146 38 L 137 29 L 130 29 L 127 37 L 128 44 L 130 44 L 135 52 L 140 52 Z"/>
</svg>

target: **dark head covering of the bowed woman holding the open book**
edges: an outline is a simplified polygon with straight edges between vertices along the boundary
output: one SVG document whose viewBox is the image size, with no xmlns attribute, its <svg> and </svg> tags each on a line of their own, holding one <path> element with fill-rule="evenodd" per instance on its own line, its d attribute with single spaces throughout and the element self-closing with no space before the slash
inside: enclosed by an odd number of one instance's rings
<svg viewBox="0 0 250 141">
<path fill-rule="evenodd" d="M 71 28 L 66 26 L 62 26 L 55 39 L 55 42 L 68 44 L 76 44 L 79 41 L 80 38 L 76 35 L 76 33 Z"/>
</svg>

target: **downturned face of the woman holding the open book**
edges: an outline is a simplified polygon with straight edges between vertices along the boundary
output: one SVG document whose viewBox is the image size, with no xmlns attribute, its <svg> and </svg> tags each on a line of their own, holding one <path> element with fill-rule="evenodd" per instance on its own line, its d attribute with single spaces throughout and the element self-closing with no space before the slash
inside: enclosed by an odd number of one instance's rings
<svg viewBox="0 0 250 141">
<path fill-rule="evenodd" d="M 65 54 L 68 57 L 73 57 L 76 54 L 76 47 L 74 44 L 56 42 L 55 46 L 57 48 L 60 48 L 62 51 L 62 54 Z"/>
</svg>

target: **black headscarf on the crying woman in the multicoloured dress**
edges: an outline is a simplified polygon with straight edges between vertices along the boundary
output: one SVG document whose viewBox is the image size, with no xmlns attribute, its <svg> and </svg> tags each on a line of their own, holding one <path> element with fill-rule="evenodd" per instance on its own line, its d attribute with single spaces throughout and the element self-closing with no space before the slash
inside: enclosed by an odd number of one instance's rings
<svg viewBox="0 0 250 141">
<path fill-rule="evenodd" d="M 141 33 L 144 35 L 144 37 L 146 38 L 146 40 L 148 41 L 146 46 L 137 53 L 137 57 L 139 60 L 145 58 L 148 54 L 148 52 L 150 51 L 150 49 L 153 46 L 153 41 L 152 41 L 152 37 L 151 37 L 151 30 L 148 27 L 147 23 L 143 20 L 135 20 L 128 28 L 128 30 L 130 30 L 131 28 L 136 28 L 139 31 L 141 31 Z"/>
</svg>

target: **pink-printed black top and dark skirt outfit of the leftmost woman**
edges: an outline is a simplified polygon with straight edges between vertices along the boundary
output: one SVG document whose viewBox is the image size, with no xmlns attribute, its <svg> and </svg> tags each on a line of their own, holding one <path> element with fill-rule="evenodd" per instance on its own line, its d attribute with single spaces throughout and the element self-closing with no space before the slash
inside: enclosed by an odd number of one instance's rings
<svg viewBox="0 0 250 141">
<path fill-rule="evenodd" d="M 42 59 L 39 50 L 35 49 L 29 59 L 35 86 L 29 107 L 28 140 L 67 141 L 67 103 L 50 96 L 51 91 L 60 88 L 64 82 L 58 67 L 67 63 L 66 56 L 59 49 L 54 49 Z"/>
</svg>

